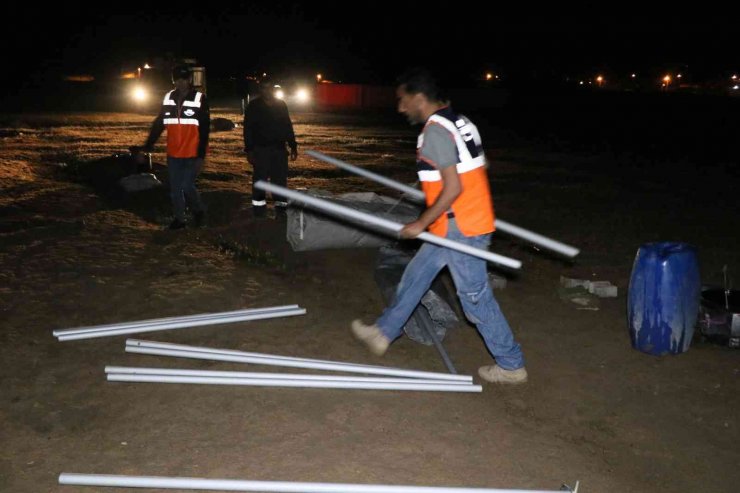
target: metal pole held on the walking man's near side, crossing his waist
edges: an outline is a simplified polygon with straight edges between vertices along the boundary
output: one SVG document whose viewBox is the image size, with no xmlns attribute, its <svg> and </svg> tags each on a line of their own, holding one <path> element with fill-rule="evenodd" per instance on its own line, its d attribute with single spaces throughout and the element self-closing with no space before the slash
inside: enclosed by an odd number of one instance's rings
<svg viewBox="0 0 740 493">
<path fill-rule="evenodd" d="M 254 184 L 254 186 L 260 190 L 265 190 L 277 195 L 282 195 L 283 197 L 293 199 L 296 202 L 303 203 L 305 205 L 311 206 L 314 209 L 318 209 L 320 211 L 335 216 L 343 217 L 345 219 L 352 219 L 360 224 L 372 225 L 384 232 L 396 233 L 396 237 L 398 237 L 398 233 L 403 228 L 403 224 L 389 221 L 388 219 L 383 219 L 382 217 L 374 216 L 366 212 L 361 212 L 352 209 L 351 207 L 345 207 L 343 205 L 335 204 L 334 202 L 331 202 L 329 200 L 319 199 L 317 197 L 312 197 L 307 194 L 289 190 L 278 185 L 273 185 L 272 183 L 258 181 Z M 474 257 L 479 257 L 487 260 L 488 262 L 500 264 L 512 269 L 519 269 L 522 266 L 522 263 L 519 260 L 505 257 L 503 255 L 498 255 L 488 250 L 471 247 L 458 241 L 448 240 L 447 238 L 442 238 L 441 236 L 437 236 L 432 233 L 424 232 L 416 238 L 437 246 L 450 248 L 462 253 L 467 253 L 468 255 L 473 255 Z"/>
</svg>

